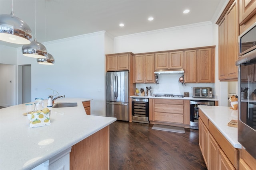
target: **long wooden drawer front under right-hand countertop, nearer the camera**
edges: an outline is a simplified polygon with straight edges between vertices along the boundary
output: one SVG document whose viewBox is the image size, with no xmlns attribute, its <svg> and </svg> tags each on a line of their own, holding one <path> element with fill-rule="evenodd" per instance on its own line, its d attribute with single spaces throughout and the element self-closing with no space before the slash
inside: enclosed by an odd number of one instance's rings
<svg viewBox="0 0 256 170">
<path fill-rule="evenodd" d="M 200 115 L 201 117 L 201 115 Z M 218 129 L 212 124 L 211 121 L 209 121 L 209 131 L 214 137 L 214 139 L 217 141 L 217 143 L 220 145 L 220 148 L 223 150 L 223 152 L 226 154 L 232 165 L 238 169 L 238 163 L 239 163 L 239 151 L 238 149 L 234 148 L 227 139 L 218 131 Z"/>
</svg>

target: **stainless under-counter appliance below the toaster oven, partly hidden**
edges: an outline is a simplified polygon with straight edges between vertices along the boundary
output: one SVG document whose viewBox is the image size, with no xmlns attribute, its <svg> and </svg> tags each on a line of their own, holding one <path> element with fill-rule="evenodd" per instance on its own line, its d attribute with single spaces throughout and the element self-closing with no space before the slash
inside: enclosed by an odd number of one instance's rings
<svg viewBox="0 0 256 170">
<path fill-rule="evenodd" d="M 190 129 L 198 129 L 198 105 L 215 106 L 215 102 L 208 100 L 190 100 Z"/>
</svg>

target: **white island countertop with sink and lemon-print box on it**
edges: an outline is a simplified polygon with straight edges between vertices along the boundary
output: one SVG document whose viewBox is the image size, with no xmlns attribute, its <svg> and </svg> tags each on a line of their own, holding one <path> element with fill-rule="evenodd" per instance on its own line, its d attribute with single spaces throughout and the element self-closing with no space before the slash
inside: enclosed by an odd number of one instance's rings
<svg viewBox="0 0 256 170">
<path fill-rule="evenodd" d="M 110 125 L 116 118 L 86 115 L 82 102 L 91 99 L 59 98 L 77 107 L 52 108 L 51 125 L 29 127 L 25 104 L 0 109 L 0 169 L 32 169 Z M 31 102 L 34 103 L 34 102 Z M 47 106 L 47 100 L 44 100 Z"/>
</svg>

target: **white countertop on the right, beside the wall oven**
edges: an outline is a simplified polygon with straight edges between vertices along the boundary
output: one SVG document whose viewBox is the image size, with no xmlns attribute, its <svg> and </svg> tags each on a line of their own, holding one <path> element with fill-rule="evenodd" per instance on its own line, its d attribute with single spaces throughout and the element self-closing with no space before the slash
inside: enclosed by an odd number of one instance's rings
<svg viewBox="0 0 256 170">
<path fill-rule="evenodd" d="M 199 109 L 208 117 L 208 119 L 216 126 L 224 137 L 230 142 L 234 148 L 241 149 L 242 145 L 238 142 L 237 127 L 228 126 L 228 122 L 232 119 L 238 119 L 238 111 L 230 109 L 226 106 L 202 106 Z"/>
</svg>

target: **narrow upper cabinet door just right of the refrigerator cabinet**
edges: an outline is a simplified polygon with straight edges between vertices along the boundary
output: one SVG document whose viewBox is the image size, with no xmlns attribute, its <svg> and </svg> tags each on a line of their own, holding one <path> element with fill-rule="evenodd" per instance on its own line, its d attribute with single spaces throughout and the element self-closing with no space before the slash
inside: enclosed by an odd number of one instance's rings
<svg viewBox="0 0 256 170">
<path fill-rule="evenodd" d="M 144 83 L 144 55 L 135 56 L 135 82 Z"/>
</svg>

